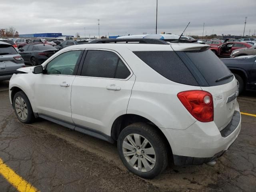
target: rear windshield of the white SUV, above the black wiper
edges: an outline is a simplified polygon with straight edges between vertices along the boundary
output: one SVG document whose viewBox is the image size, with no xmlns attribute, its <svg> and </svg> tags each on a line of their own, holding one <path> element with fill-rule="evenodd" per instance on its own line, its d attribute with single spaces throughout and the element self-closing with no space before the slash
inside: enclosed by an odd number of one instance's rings
<svg viewBox="0 0 256 192">
<path fill-rule="evenodd" d="M 209 86 L 216 86 L 221 84 L 226 84 L 234 77 L 224 79 L 222 81 L 216 82 L 216 80 L 231 74 L 230 70 L 226 67 L 226 65 L 211 51 L 178 51 L 178 55 L 182 54 L 182 59 L 186 64 L 194 64 L 196 66 L 197 71 L 203 76 Z M 185 56 L 184 56 L 185 54 Z M 186 59 L 187 58 L 189 59 Z M 201 85 L 203 86 L 203 85 Z M 205 85 L 207 86 L 207 85 Z"/>
</svg>

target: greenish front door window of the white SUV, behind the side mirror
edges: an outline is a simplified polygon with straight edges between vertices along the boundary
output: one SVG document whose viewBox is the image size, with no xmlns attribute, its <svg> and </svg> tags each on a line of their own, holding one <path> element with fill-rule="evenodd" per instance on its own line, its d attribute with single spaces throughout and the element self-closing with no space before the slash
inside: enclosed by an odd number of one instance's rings
<svg viewBox="0 0 256 192">
<path fill-rule="evenodd" d="M 46 66 L 46 74 L 73 75 L 82 50 L 64 52 L 51 60 Z"/>
</svg>

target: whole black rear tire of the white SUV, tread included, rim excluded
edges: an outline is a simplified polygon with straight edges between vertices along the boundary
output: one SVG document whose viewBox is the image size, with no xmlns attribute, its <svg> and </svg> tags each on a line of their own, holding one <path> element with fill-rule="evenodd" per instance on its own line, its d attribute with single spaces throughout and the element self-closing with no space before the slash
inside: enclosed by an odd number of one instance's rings
<svg viewBox="0 0 256 192">
<path fill-rule="evenodd" d="M 136 170 L 135 168 L 130 166 L 130 164 L 126 160 L 123 154 L 122 145 L 126 136 L 130 134 L 140 134 L 141 136 L 146 138 L 150 142 L 151 146 L 154 148 L 155 154 L 156 154 L 155 155 L 156 162 L 154 167 L 150 171 L 142 172 L 142 171 Z M 126 166 L 126 168 L 130 172 L 142 178 L 152 179 L 156 177 L 158 174 L 160 174 L 168 164 L 167 147 L 164 144 L 163 140 L 164 139 L 160 136 L 160 134 L 157 132 L 154 126 L 146 123 L 133 123 L 128 125 L 126 128 L 124 128 L 120 133 L 120 135 L 118 136 L 118 142 L 117 142 L 118 153 L 123 164 Z"/>
</svg>

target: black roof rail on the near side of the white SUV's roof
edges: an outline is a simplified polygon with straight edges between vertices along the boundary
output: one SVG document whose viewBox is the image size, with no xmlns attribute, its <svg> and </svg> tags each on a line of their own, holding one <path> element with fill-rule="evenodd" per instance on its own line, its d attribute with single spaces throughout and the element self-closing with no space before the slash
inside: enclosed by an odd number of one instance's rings
<svg viewBox="0 0 256 192">
<path fill-rule="evenodd" d="M 96 39 L 91 41 L 89 44 L 96 44 L 96 43 L 128 43 L 128 42 L 134 42 L 134 43 L 141 43 L 141 44 L 162 44 L 162 45 L 170 45 L 167 42 L 161 40 L 161 39 L 146 39 L 146 38 L 125 38 L 125 39 Z"/>
</svg>

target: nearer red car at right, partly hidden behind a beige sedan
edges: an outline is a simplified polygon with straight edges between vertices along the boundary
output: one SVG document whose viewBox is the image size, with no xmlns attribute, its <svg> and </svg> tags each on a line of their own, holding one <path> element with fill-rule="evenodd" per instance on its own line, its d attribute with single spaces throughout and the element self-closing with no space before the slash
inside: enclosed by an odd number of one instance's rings
<svg viewBox="0 0 256 192">
<path fill-rule="evenodd" d="M 211 46 L 210 50 L 214 52 L 217 56 L 226 56 L 229 57 L 232 51 L 240 48 L 250 48 L 252 44 L 246 42 L 227 42 L 221 46 Z"/>
</svg>

